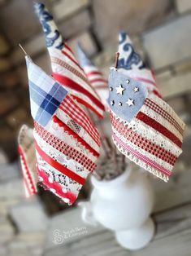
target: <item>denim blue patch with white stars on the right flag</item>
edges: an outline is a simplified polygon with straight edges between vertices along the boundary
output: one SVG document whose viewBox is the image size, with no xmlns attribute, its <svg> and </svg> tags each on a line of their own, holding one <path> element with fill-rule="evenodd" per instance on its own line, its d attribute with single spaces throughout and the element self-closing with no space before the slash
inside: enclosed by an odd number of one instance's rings
<svg viewBox="0 0 191 256">
<path fill-rule="evenodd" d="M 148 91 L 141 82 L 116 70 L 109 77 L 109 103 L 116 116 L 130 122 L 144 104 Z"/>
</svg>

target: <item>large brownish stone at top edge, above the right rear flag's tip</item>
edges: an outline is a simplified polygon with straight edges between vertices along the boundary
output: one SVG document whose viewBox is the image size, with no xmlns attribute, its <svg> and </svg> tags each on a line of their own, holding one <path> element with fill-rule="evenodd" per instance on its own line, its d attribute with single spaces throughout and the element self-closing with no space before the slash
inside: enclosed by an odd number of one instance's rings
<svg viewBox="0 0 191 256">
<path fill-rule="evenodd" d="M 171 0 L 93 1 L 95 28 L 104 45 L 117 41 L 119 30 L 140 33 L 173 15 Z"/>
</svg>

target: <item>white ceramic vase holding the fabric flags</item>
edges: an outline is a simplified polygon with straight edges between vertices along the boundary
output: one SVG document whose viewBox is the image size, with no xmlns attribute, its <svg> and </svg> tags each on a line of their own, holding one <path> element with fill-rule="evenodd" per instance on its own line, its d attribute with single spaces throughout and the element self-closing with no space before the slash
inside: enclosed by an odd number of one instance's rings
<svg viewBox="0 0 191 256">
<path fill-rule="evenodd" d="M 154 192 L 145 172 L 127 169 L 111 181 L 92 177 L 91 182 L 90 201 L 79 203 L 85 223 L 111 229 L 125 249 L 145 247 L 154 236 Z"/>
</svg>

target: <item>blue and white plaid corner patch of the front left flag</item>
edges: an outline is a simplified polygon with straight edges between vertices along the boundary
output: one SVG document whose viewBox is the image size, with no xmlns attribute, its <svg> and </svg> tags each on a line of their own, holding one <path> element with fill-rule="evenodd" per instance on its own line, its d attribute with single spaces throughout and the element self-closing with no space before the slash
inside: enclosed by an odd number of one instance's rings
<svg viewBox="0 0 191 256">
<path fill-rule="evenodd" d="M 48 77 L 36 64 L 33 64 L 28 56 L 26 57 L 26 63 L 31 114 L 33 119 L 41 126 L 46 126 L 67 95 L 67 90 L 58 82 L 55 82 L 52 77 Z"/>
</svg>

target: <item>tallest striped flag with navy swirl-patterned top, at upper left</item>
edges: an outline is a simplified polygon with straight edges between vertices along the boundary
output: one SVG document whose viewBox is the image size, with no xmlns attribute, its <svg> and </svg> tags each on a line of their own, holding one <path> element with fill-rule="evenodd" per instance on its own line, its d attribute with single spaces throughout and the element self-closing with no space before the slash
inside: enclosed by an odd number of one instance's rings
<svg viewBox="0 0 191 256">
<path fill-rule="evenodd" d="M 102 117 L 104 106 L 90 85 L 83 68 L 78 64 L 72 49 L 63 41 L 52 15 L 42 3 L 35 3 L 34 7 L 45 33 L 52 76 L 69 90 L 72 98 L 79 104 L 91 109 L 98 117 Z"/>
</svg>

